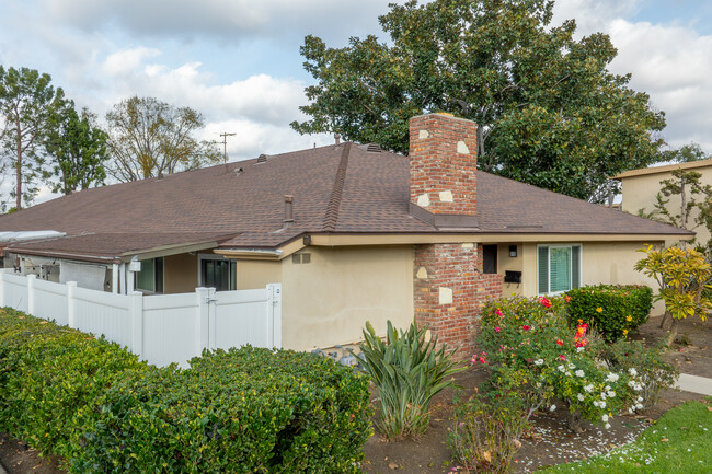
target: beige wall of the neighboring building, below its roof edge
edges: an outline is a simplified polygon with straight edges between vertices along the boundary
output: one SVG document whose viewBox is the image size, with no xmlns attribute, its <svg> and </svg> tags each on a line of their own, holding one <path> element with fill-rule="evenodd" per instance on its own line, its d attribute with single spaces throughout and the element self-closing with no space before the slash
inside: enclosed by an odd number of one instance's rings
<svg viewBox="0 0 712 474">
<path fill-rule="evenodd" d="M 712 166 L 702 166 L 690 169 L 702 175 L 702 184 L 712 185 Z M 671 172 L 644 174 L 640 176 L 624 177 L 621 180 L 623 193 L 623 210 L 638 216 L 640 209 L 645 212 L 651 212 L 655 206 L 657 193 L 661 190 L 661 181 L 671 178 Z M 680 198 L 679 196 L 670 196 L 670 201 L 667 204 L 667 209 L 679 216 L 680 212 Z M 692 219 L 697 217 L 693 213 Z M 704 243 L 710 239 L 710 232 L 704 227 L 694 229 L 698 233 L 697 242 Z"/>
</svg>

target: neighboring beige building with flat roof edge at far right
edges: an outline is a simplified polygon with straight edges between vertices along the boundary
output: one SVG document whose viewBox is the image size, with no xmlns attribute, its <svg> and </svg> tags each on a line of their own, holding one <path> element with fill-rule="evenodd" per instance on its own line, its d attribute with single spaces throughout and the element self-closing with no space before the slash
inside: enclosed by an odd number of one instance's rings
<svg viewBox="0 0 712 474">
<path fill-rule="evenodd" d="M 613 176 L 613 180 L 619 180 L 622 185 L 622 210 L 636 216 L 641 209 L 646 213 L 651 212 L 657 201 L 656 196 L 663 187 L 661 182 L 671 178 L 671 173 L 678 169 L 700 173 L 702 184 L 712 186 L 712 159 L 627 171 Z M 670 196 L 669 199 L 670 201 L 667 204 L 668 210 L 679 215 L 680 197 Z M 693 212 L 691 218 L 694 219 L 696 217 L 697 215 Z M 697 228 L 694 231 L 697 232 L 698 243 L 710 240 L 710 231 L 704 226 Z"/>
</svg>

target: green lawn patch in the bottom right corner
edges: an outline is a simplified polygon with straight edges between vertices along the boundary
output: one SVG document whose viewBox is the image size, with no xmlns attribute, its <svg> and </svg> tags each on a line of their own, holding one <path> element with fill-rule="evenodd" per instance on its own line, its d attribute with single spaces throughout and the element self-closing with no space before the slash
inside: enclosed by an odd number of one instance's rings
<svg viewBox="0 0 712 474">
<path fill-rule="evenodd" d="M 709 474 L 712 472 L 712 398 L 667 412 L 640 438 L 607 454 L 537 471 L 556 474 Z"/>
</svg>

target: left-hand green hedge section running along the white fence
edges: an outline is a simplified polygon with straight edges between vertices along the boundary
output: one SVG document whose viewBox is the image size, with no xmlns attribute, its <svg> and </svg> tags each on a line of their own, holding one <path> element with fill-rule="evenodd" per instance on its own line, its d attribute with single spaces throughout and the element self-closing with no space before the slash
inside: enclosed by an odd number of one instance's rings
<svg viewBox="0 0 712 474">
<path fill-rule="evenodd" d="M 83 428 L 78 411 L 93 409 L 106 390 L 146 370 L 116 344 L 0 310 L 0 430 L 42 452 L 67 456 Z"/>
</svg>

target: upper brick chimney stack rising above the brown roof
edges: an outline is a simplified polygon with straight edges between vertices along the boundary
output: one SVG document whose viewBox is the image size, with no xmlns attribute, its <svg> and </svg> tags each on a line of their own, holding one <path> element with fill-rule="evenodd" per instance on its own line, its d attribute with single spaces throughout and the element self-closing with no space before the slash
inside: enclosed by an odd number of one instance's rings
<svg viewBox="0 0 712 474">
<path fill-rule="evenodd" d="M 450 114 L 411 118 L 411 213 L 436 227 L 476 226 L 476 132 Z"/>
</svg>

